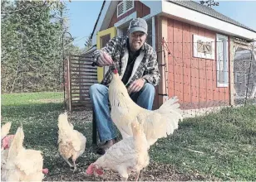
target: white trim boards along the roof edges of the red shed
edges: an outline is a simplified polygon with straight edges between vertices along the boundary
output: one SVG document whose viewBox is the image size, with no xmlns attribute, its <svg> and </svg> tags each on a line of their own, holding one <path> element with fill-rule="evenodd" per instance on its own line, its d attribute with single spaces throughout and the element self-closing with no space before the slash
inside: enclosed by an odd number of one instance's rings
<svg viewBox="0 0 256 182">
<path fill-rule="evenodd" d="M 156 15 L 163 15 L 170 17 L 181 22 L 187 22 L 194 26 L 204 27 L 206 29 L 217 31 L 222 34 L 229 36 L 237 36 L 247 41 L 256 39 L 256 32 L 249 31 L 243 27 L 235 26 L 229 22 L 224 22 L 215 17 L 210 17 L 201 12 L 196 12 L 186 7 L 182 7 L 172 2 L 162 1 L 148 1 L 140 0 L 145 6 L 150 7 L 150 17 Z M 96 32 L 107 28 L 111 21 L 118 1 L 106 1 L 99 22 L 96 25 L 96 30 L 94 31 L 92 42 L 96 44 Z"/>
</svg>

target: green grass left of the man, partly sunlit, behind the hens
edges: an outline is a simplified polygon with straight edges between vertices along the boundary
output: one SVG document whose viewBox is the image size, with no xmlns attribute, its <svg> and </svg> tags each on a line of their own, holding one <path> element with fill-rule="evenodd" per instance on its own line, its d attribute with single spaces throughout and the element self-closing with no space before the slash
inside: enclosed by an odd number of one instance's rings
<svg viewBox="0 0 256 182">
<path fill-rule="evenodd" d="M 56 99 L 59 102 L 56 102 Z M 45 100 L 48 103 L 45 103 Z M 2 123 L 12 122 L 10 133 L 15 133 L 17 127 L 22 124 L 25 133 L 24 146 L 42 151 L 44 167 L 50 171 L 47 176 L 66 173 L 66 168 L 63 167 L 65 162 L 57 151 L 57 118 L 64 112 L 62 93 L 2 94 L 1 110 Z M 86 147 L 90 147 L 92 128 L 89 120 L 76 117 L 72 118 L 71 122 L 77 131 L 86 136 Z M 86 156 L 80 157 L 77 162 L 81 164 L 81 161 L 88 158 Z M 89 153 L 88 156 L 90 160 L 96 160 L 96 155 Z"/>
</svg>

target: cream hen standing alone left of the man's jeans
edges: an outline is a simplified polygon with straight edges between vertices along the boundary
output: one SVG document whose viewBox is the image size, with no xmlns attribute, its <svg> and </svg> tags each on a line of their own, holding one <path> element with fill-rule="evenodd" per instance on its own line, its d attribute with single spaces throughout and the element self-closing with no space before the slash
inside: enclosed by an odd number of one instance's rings
<svg viewBox="0 0 256 182">
<path fill-rule="evenodd" d="M 70 167 L 76 170 L 76 159 L 86 150 L 86 136 L 73 129 L 73 125 L 68 122 L 67 114 L 60 114 L 58 117 L 58 146 L 60 155 Z M 71 158 L 73 165 L 69 159 Z"/>
</svg>

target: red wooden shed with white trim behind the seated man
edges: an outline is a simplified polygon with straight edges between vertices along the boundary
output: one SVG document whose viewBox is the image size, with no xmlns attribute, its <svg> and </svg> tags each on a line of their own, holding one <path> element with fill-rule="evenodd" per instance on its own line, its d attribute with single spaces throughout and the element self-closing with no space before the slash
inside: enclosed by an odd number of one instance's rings
<svg viewBox="0 0 256 182">
<path fill-rule="evenodd" d="M 193 1 L 104 1 L 93 43 L 99 49 L 111 37 L 126 35 L 135 17 L 148 22 L 147 42 L 158 54 L 154 108 L 166 94 L 178 96 L 183 109 L 234 104 L 234 47 L 252 42 L 256 31 Z M 98 69 L 98 81 L 106 69 Z"/>
</svg>

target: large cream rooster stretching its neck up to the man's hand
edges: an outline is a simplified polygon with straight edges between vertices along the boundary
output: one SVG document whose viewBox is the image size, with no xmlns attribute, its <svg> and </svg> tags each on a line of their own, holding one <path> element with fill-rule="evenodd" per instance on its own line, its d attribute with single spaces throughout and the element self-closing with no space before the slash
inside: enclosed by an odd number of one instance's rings
<svg viewBox="0 0 256 182">
<path fill-rule="evenodd" d="M 117 70 L 112 74 L 109 85 L 111 118 L 123 138 L 132 136 L 130 123 L 137 119 L 143 126 L 149 146 L 161 137 L 172 134 L 182 120 L 178 98 L 170 98 L 159 109 L 150 111 L 140 108 L 130 98 L 126 86 L 122 83 Z"/>
</svg>

